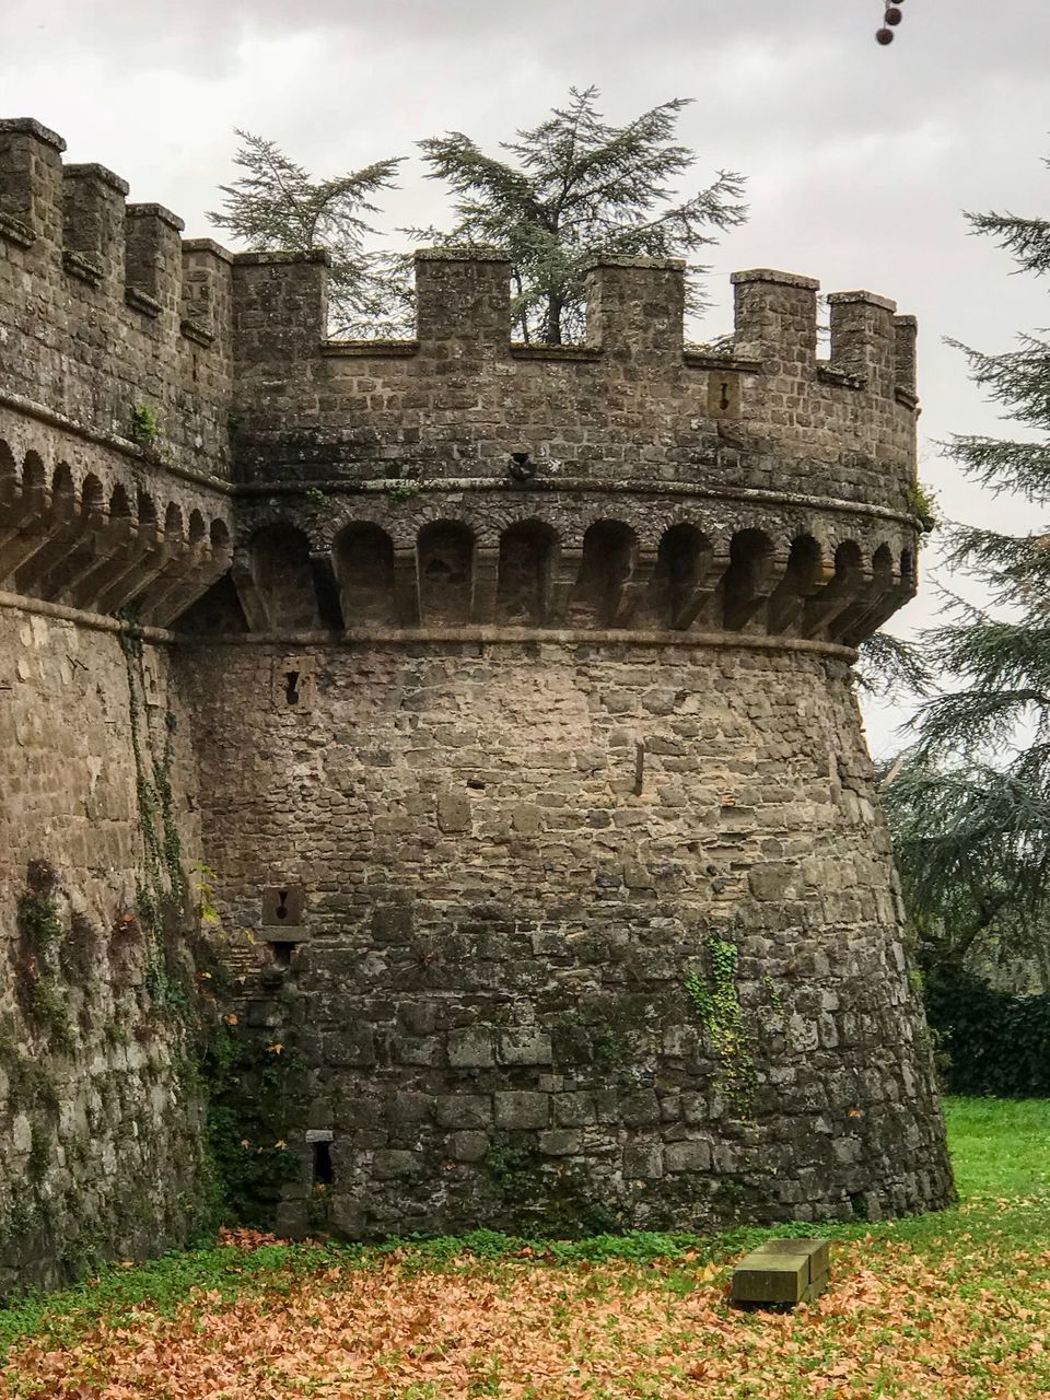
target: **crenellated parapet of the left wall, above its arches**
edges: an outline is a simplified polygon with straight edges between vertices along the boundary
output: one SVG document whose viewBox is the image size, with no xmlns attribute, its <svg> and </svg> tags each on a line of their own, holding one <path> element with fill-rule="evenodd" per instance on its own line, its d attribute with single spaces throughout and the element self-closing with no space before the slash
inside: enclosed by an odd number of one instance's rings
<svg viewBox="0 0 1050 1400">
<path fill-rule="evenodd" d="M 39 122 L 0 120 L 0 392 L 125 440 L 144 412 L 165 459 L 228 476 L 228 255 L 63 151 Z"/>
</svg>

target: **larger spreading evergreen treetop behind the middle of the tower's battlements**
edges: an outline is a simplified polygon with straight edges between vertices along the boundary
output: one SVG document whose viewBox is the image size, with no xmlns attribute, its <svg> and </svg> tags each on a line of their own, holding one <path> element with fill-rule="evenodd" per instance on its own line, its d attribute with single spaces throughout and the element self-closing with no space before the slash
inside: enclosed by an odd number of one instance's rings
<svg viewBox="0 0 1050 1400">
<path fill-rule="evenodd" d="M 455 224 L 409 232 L 440 245 L 505 248 L 514 325 L 526 342 L 582 339 L 584 280 L 596 258 L 689 256 L 715 242 L 713 231 L 746 217 L 743 178 L 732 171 L 676 202 L 671 186 L 696 160 L 675 140 L 687 99 L 612 126 L 598 97 L 595 87 L 571 88 L 564 108 L 500 144 L 505 158 L 487 155 L 462 132 L 420 141 L 430 176 L 447 181 L 455 196 Z M 693 279 L 690 307 L 700 305 Z"/>
</svg>

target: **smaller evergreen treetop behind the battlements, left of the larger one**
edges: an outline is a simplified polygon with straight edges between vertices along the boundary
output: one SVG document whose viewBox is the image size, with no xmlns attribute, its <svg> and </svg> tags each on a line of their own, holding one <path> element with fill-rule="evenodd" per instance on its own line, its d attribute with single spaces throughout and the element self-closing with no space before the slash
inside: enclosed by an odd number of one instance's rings
<svg viewBox="0 0 1050 1400">
<path fill-rule="evenodd" d="M 368 216 L 375 196 L 392 189 L 400 160 L 374 161 L 360 171 L 314 179 L 276 141 L 237 130 L 234 164 L 244 174 L 221 185 L 223 207 L 209 218 L 253 252 L 332 255 L 329 330 L 340 337 L 398 337 L 412 319 L 412 288 L 403 258 L 367 251 L 375 234 Z"/>
</svg>

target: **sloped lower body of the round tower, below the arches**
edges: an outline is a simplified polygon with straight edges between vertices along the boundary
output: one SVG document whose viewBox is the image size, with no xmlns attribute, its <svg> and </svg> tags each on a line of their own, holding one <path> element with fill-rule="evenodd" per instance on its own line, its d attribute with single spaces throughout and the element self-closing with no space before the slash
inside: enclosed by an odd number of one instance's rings
<svg viewBox="0 0 1050 1400">
<path fill-rule="evenodd" d="M 949 1197 L 848 666 L 710 641 L 182 655 L 234 918 L 274 882 L 311 907 L 262 925 L 295 951 L 245 1018 L 314 1070 L 288 1140 L 329 1144 L 323 1221 L 295 1184 L 281 1229 Z M 288 669 L 305 714 L 270 703 Z"/>
</svg>

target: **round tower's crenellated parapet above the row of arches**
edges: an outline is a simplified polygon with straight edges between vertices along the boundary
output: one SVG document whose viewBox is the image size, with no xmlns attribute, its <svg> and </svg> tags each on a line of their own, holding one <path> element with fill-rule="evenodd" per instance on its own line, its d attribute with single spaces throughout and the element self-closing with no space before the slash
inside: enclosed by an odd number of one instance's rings
<svg viewBox="0 0 1050 1400">
<path fill-rule="evenodd" d="M 242 482 L 564 477 L 787 487 L 907 508 L 916 473 L 909 322 L 832 298 L 816 357 L 812 279 L 735 274 L 736 335 L 683 344 L 683 269 L 591 273 L 582 346 L 510 340 L 510 265 L 417 256 L 420 335 L 326 342 L 318 262 L 235 262 L 234 455 Z M 897 358 L 899 357 L 899 358 Z"/>
</svg>

